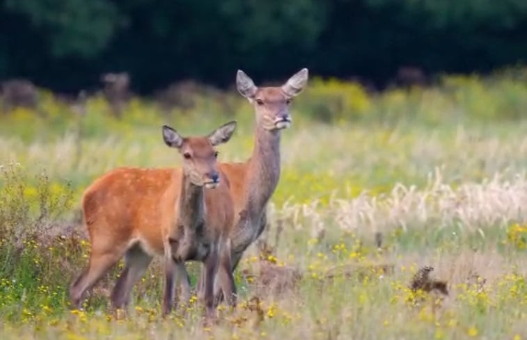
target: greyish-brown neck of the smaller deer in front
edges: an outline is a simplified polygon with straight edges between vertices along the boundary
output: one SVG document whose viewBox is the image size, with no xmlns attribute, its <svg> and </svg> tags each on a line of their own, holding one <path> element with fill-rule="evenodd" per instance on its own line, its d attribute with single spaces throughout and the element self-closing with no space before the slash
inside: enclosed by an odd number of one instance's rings
<svg viewBox="0 0 527 340">
<path fill-rule="evenodd" d="M 192 184 L 190 178 L 183 174 L 179 197 L 179 222 L 185 229 L 195 232 L 203 224 L 205 216 L 203 186 Z"/>
</svg>

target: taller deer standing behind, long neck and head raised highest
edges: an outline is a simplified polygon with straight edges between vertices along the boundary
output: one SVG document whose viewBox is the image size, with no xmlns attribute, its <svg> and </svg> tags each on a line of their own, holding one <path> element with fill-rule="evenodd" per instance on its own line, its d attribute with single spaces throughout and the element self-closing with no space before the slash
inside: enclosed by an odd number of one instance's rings
<svg viewBox="0 0 527 340">
<path fill-rule="evenodd" d="M 290 127 L 289 106 L 307 81 L 308 69 L 304 68 L 283 86 L 258 88 L 242 70 L 237 72 L 237 90 L 253 104 L 256 126 L 251 158 L 244 163 L 221 164 L 221 170 L 230 181 L 230 193 L 235 203 L 235 220 L 230 234 L 233 271 L 243 252 L 265 227 L 267 202 L 280 177 L 281 130 Z M 198 283 L 200 296 L 203 296 L 204 275 L 202 269 Z M 219 293 L 218 286 L 215 293 Z"/>
</svg>

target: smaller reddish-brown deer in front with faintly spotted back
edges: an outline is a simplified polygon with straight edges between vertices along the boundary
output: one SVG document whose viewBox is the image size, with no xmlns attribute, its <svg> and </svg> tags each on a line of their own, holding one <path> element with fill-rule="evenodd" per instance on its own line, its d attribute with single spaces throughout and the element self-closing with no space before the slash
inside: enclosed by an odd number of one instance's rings
<svg viewBox="0 0 527 340">
<path fill-rule="evenodd" d="M 186 274 L 184 261 L 191 260 L 205 264 L 207 316 L 213 315 L 218 268 L 224 278 L 223 293 L 235 305 L 226 237 L 232 226 L 233 202 L 214 149 L 230 140 L 235 127 L 233 121 L 205 137 L 183 138 L 164 126 L 164 142 L 180 151 L 182 168 L 117 168 L 86 189 L 81 205 L 91 252 L 88 265 L 70 286 L 72 307 L 80 309 L 86 291 L 122 257 L 125 268 L 111 301 L 114 309 L 125 307 L 135 282 L 155 256 L 164 257 L 164 315 L 171 310 L 175 273 L 183 270 Z M 190 293 L 183 291 L 182 295 L 188 300 Z"/>
</svg>

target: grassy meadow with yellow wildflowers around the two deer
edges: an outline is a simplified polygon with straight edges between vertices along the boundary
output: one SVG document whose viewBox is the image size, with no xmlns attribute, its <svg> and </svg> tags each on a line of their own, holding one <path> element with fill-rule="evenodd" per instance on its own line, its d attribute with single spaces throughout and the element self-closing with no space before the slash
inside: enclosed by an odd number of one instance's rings
<svg viewBox="0 0 527 340">
<path fill-rule="evenodd" d="M 162 318 L 159 261 L 126 318 L 109 306 L 118 268 L 70 310 L 93 179 L 177 166 L 162 124 L 191 135 L 235 119 L 219 159 L 250 155 L 249 103 L 188 96 L 184 108 L 133 97 L 116 118 L 97 93 L 72 104 L 40 90 L 38 108 L 0 114 L 1 339 L 527 339 L 524 68 L 382 92 L 311 79 L 282 133 L 269 225 L 235 273 L 235 310 L 203 325 L 193 298 Z M 425 266 L 447 294 L 412 289 Z"/>
</svg>

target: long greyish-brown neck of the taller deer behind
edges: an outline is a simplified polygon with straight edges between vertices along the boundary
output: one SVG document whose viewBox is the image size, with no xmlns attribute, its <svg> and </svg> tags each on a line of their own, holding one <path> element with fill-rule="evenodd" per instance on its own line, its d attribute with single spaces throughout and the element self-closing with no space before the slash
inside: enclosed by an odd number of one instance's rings
<svg viewBox="0 0 527 340">
<path fill-rule="evenodd" d="M 280 131 L 256 127 L 248 170 L 245 210 L 251 220 L 259 220 L 280 177 Z"/>
</svg>

